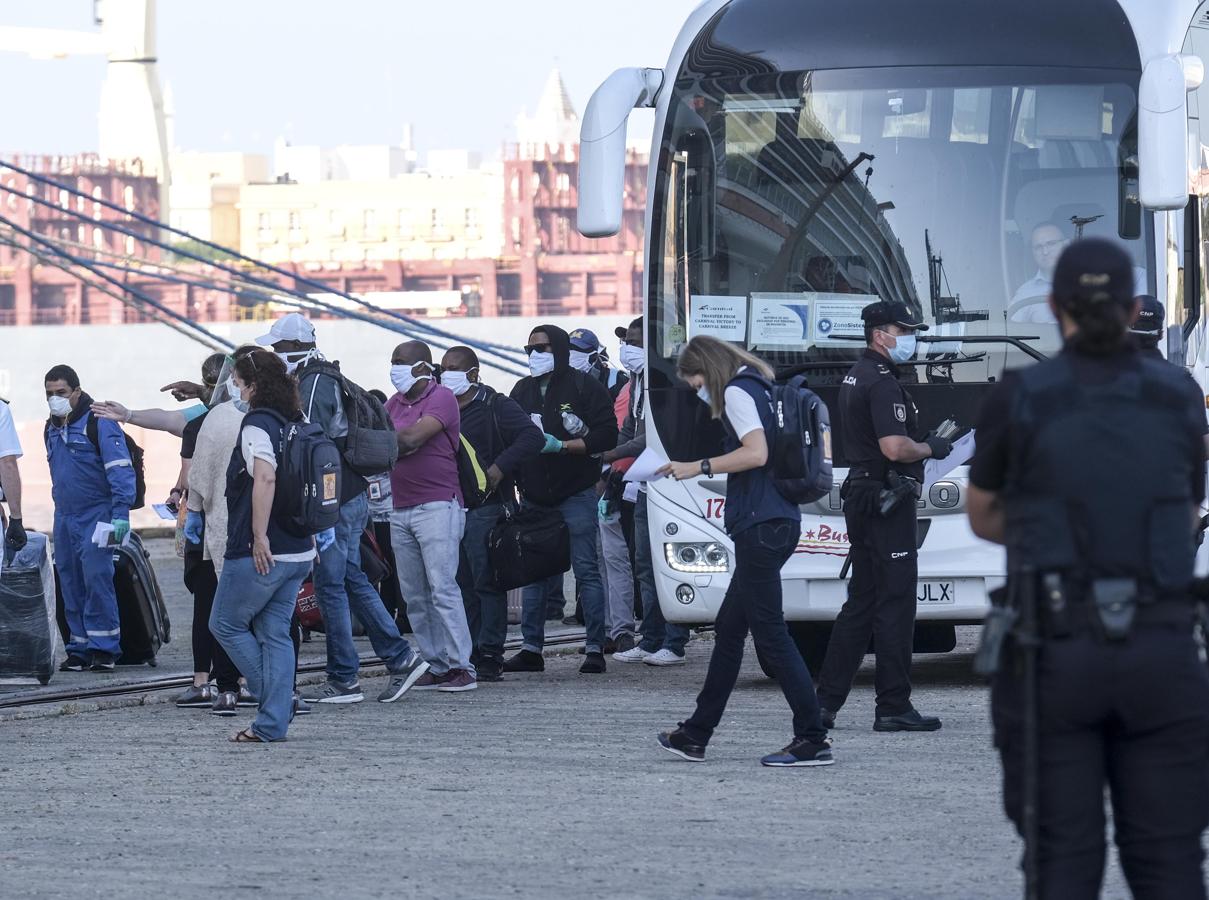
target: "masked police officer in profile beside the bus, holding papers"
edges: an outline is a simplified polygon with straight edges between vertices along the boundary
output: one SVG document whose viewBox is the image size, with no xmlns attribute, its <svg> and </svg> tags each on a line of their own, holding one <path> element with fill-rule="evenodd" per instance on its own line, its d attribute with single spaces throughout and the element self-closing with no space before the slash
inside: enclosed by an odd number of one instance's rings
<svg viewBox="0 0 1209 900">
<path fill-rule="evenodd" d="M 852 579 L 832 630 L 818 676 L 823 723 L 852 688 L 869 636 L 878 668 L 875 731 L 936 731 L 941 720 L 910 703 L 910 657 L 915 635 L 915 502 L 924 460 L 943 460 L 950 442 L 919 434 L 918 410 L 898 382 L 896 363 L 915 356 L 915 333 L 927 330 L 906 304 L 879 301 L 861 311 L 866 351 L 839 392 L 844 448 L 851 461 L 844 483 Z"/>
</svg>

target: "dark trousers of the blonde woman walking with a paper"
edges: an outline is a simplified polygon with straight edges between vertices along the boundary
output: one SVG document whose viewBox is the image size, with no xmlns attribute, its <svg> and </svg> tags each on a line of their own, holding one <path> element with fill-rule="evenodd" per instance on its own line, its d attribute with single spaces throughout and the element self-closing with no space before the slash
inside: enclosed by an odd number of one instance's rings
<svg viewBox="0 0 1209 900">
<path fill-rule="evenodd" d="M 744 647 L 751 631 L 756 647 L 776 674 L 776 682 L 793 711 L 793 737 L 821 743 L 827 732 L 818 717 L 810 671 L 785 624 L 781 567 L 793 555 L 802 523 L 792 519 L 753 525 L 735 536 L 735 571 L 713 624 L 713 653 L 696 710 L 683 723 L 686 734 L 708 743 L 735 690 Z"/>
</svg>

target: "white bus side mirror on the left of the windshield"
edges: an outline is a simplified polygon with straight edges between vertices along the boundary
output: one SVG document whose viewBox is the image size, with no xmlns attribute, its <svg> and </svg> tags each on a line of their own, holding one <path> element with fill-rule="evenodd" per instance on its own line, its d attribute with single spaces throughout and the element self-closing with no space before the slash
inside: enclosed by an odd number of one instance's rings
<svg viewBox="0 0 1209 900">
<path fill-rule="evenodd" d="M 654 106 L 663 69 L 618 69 L 596 88 L 579 128 L 579 233 L 609 237 L 621 230 L 625 126 L 630 110 Z"/>
</svg>

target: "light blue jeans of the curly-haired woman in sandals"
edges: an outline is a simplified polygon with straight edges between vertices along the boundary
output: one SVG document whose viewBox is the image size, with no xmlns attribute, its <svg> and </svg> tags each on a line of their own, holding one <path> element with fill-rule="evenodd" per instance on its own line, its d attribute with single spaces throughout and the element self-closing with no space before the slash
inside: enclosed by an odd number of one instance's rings
<svg viewBox="0 0 1209 900">
<path fill-rule="evenodd" d="M 210 633 L 260 698 L 251 732 L 284 740 L 294 712 L 294 641 L 290 619 L 310 562 L 276 562 L 256 572 L 251 558 L 229 559 L 210 611 Z"/>
</svg>

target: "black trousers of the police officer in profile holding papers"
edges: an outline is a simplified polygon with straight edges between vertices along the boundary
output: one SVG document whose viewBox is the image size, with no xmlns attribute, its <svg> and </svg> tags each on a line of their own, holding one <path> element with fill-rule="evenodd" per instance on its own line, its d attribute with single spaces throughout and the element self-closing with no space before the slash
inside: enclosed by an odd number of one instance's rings
<svg viewBox="0 0 1209 900">
<path fill-rule="evenodd" d="M 838 712 L 852 690 L 873 638 L 877 715 L 910 710 L 910 656 L 915 639 L 915 504 L 899 503 L 887 517 L 845 510 L 852 576 L 848 600 L 832 629 L 818 673 L 818 704 Z"/>
</svg>

